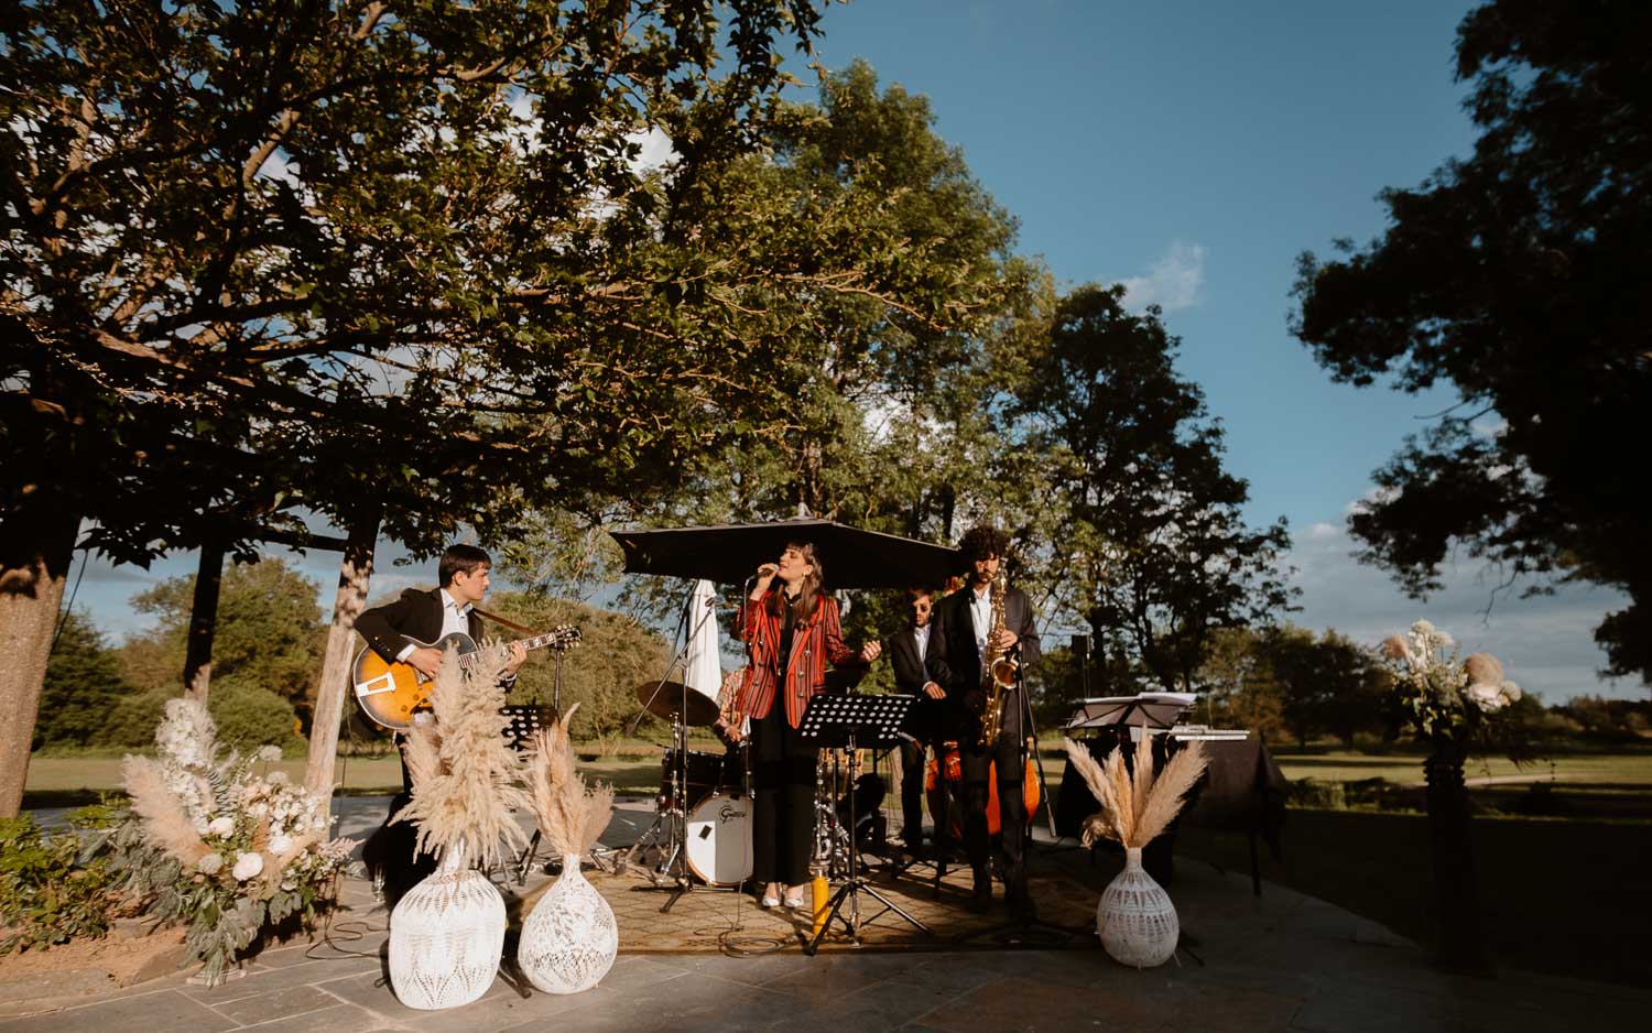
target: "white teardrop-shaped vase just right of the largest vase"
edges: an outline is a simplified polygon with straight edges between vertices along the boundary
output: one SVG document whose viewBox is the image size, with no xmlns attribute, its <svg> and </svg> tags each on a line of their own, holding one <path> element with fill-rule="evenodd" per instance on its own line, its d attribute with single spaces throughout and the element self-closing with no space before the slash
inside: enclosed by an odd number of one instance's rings
<svg viewBox="0 0 1652 1033">
<path fill-rule="evenodd" d="M 578 854 L 565 854 L 557 884 L 522 922 L 517 967 L 545 993 L 578 993 L 608 975 L 618 952 L 613 907 L 585 879 Z"/>
</svg>

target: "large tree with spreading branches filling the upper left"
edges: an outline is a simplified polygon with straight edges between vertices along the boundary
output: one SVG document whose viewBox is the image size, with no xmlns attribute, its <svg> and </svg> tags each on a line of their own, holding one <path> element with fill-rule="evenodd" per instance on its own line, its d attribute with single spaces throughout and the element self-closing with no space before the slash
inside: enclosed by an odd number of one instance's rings
<svg viewBox="0 0 1652 1033">
<path fill-rule="evenodd" d="M 426 554 L 461 524 L 502 536 L 529 502 L 669 483 L 686 448 L 763 425 L 760 342 L 730 291 L 866 288 L 712 253 L 699 177 L 752 145 L 780 46 L 806 48 L 816 17 L 811 0 L 15 10 L 0 812 L 83 519 L 121 562 L 206 540 L 246 555 L 271 526 L 299 531 L 299 507 L 349 529 L 354 555 L 380 529 Z M 669 172 L 636 167 L 648 131 L 671 139 Z"/>
</svg>

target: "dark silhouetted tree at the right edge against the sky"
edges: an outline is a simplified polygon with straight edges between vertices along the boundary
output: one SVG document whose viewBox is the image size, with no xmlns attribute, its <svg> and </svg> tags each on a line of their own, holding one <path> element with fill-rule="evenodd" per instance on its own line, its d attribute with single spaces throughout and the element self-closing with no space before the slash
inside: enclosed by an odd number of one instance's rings
<svg viewBox="0 0 1652 1033">
<path fill-rule="evenodd" d="M 1652 402 L 1652 93 L 1635 0 L 1493 0 L 1457 28 L 1474 154 L 1384 190 L 1391 226 L 1300 259 L 1292 332 L 1336 380 L 1452 387 L 1350 517 L 1361 559 L 1416 597 L 1454 545 L 1528 592 L 1611 585 L 1607 673 L 1652 679 L 1644 479 L 1624 450 Z"/>
</svg>

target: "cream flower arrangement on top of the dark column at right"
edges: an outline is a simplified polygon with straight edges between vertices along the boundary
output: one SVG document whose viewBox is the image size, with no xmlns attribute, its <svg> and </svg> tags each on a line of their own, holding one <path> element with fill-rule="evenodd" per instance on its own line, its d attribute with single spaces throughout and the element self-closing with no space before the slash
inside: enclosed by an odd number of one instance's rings
<svg viewBox="0 0 1652 1033">
<path fill-rule="evenodd" d="M 1503 678 L 1490 653 L 1457 661 L 1457 643 L 1426 620 L 1406 635 L 1389 635 L 1381 646 L 1394 674 L 1398 704 L 1424 739 L 1459 739 L 1487 717 L 1520 699 L 1520 686 Z"/>
</svg>

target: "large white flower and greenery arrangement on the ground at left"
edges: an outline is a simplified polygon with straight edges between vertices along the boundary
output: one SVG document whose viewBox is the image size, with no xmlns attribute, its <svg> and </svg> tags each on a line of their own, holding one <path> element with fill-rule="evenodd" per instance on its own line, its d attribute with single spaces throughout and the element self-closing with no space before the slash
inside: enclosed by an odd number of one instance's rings
<svg viewBox="0 0 1652 1033">
<path fill-rule="evenodd" d="M 126 757 L 131 812 L 106 845 L 149 914 L 188 922 L 185 947 L 213 982 L 261 931 L 330 909 L 355 841 L 329 838 L 325 797 L 263 774 L 278 747 L 223 752 L 197 699 L 167 702 L 155 747 Z"/>
</svg>

